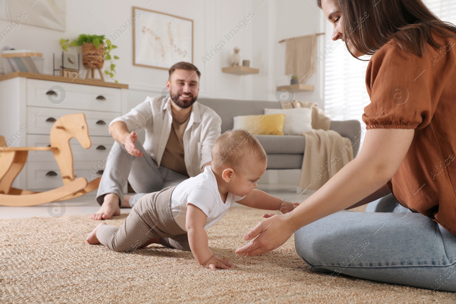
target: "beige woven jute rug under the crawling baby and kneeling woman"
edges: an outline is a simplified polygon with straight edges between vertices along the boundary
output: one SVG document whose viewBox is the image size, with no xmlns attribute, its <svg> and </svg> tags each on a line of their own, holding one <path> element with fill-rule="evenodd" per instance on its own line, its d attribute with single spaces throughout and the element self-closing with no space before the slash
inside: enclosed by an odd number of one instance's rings
<svg viewBox="0 0 456 304">
<path fill-rule="evenodd" d="M 263 212 L 233 207 L 208 229 L 209 245 L 237 268 L 211 271 L 191 252 L 150 245 L 131 253 L 85 242 L 89 216 L 0 222 L 0 303 L 455 303 L 456 294 L 311 271 L 293 238 L 239 257 L 242 235 Z M 108 220 L 119 226 L 127 214 Z"/>
</svg>

